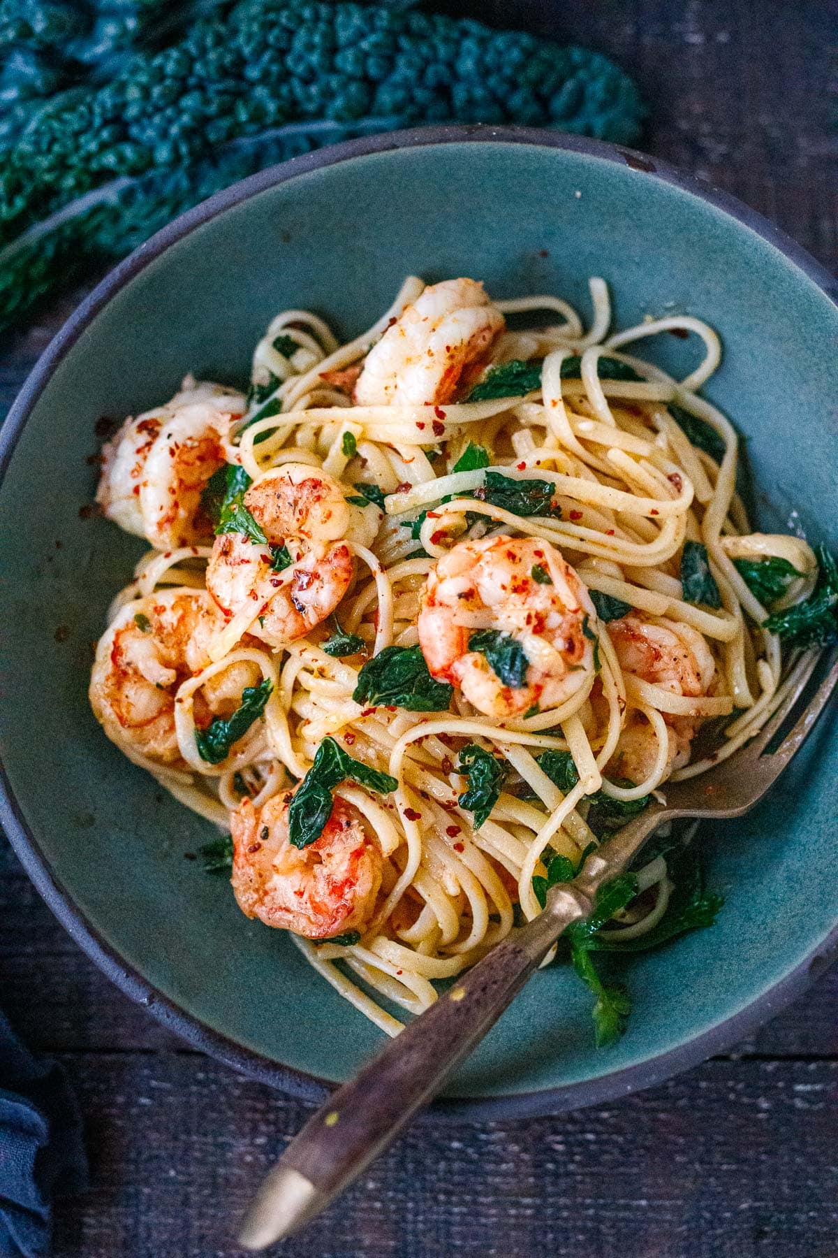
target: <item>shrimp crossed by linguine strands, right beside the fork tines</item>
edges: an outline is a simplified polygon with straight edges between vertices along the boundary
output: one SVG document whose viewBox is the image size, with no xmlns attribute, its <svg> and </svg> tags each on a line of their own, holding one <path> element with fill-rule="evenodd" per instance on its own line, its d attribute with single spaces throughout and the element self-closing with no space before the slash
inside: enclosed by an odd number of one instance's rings
<svg viewBox="0 0 838 1258">
<path fill-rule="evenodd" d="M 614 645 L 619 667 L 645 682 L 652 682 L 672 694 L 697 698 L 706 694 L 716 673 L 716 664 L 706 640 L 690 625 L 672 621 L 651 621 L 638 614 L 612 620 L 608 635 Z M 700 718 L 662 713 L 667 726 L 668 776 L 690 759 L 690 743 Z M 646 781 L 657 759 L 657 737 L 639 715 L 631 712 L 623 727 L 609 772 L 633 782 Z"/>
</svg>

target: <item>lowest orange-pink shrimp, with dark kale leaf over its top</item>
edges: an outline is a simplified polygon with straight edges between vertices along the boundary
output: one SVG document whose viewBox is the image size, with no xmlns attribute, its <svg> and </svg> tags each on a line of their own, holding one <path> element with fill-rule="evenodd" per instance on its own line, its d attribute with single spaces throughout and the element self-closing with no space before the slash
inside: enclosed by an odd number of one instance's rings
<svg viewBox="0 0 838 1258">
<path fill-rule="evenodd" d="M 248 917 L 322 940 L 363 932 L 381 887 L 383 858 L 358 814 L 335 799 L 319 839 L 291 847 L 288 808 L 293 791 L 256 809 L 242 800 L 230 819 L 232 889 Z"/>
</svg>

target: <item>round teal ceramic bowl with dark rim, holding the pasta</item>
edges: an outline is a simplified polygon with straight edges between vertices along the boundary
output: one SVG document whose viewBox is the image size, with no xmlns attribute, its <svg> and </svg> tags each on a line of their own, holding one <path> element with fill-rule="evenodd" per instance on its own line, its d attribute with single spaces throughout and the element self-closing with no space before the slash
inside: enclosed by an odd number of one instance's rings
<svg viewBox="0 0 838 1258">
<path fill-rule="evenodd" d="M 768 223 L 631 153 L 552 132 L 417 131 L 269 170 L 178 219 L 102 283 L 54 340 L 3 430 L 3 823 L 39 891 L 137 1000 L 230 1064 L 317 1098 L 382 1035 L 290 940 L 185 859 L 209 824 L 108 742 L 87 704 L 90 642 L 143 550 L 85 518 L 97 420 L 167 398 L 187 370 L 246 376 L 270 316 L 310 307 L 347 337 L 400 281 L 467 274 L 499 297 L 555 292 L 616 318 L 707 318 L 725 357 L 710 396 L 748 439 L 761 526 L 838 542 L 838 308 L 829 277 Z M 662 343 L 666 342 L 666 343 Z M 648 342 L 672 367 L 694 347 Z M 634 1011 L 597 1050 L 589 996 L 539 972 L 437 1112 L 536 1113 L 657 1082 L 769 1018 L 838 950 L 828 721 L 774 796 L 700 837 L 726 903 L 627 965 Z"/>
</svg>

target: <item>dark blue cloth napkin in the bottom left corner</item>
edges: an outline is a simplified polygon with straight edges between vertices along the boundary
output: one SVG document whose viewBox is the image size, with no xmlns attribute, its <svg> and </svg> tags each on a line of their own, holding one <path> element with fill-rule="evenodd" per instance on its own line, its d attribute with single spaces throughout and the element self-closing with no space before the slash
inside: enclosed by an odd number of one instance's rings
<svg viewBox="0 0 838 1258">
<path fill-rule="evenodd" d="M 53 1199 L 87 1186 L 82 1118 L 64 1072 L 0 1013 L 0 1258 L 49 1252 Z"/>
</svg>

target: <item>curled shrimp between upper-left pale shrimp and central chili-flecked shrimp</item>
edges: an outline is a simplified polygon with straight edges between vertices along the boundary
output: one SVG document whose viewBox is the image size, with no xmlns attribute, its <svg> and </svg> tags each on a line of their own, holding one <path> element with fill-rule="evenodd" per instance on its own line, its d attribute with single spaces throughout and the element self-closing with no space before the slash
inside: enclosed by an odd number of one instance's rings
<svg viewBox="0 0 838 1258">
<path fill-rule="evenodd" d="M 303 463 L 269 473 L 244 501 L 269 545 L 241 533 L 216 537 L 206 587 L 227 619 L 253 605 L 253 634 L 275 645 L 294 642 L 325 620 L 349 587 L 354 561 L 343 538 L 372 541 L 381 512 L 348 503 L 337 481 Z M 295 561 L 290 580 L 273 569 L 271 546 L 288 547 Z"/>
</svg>

